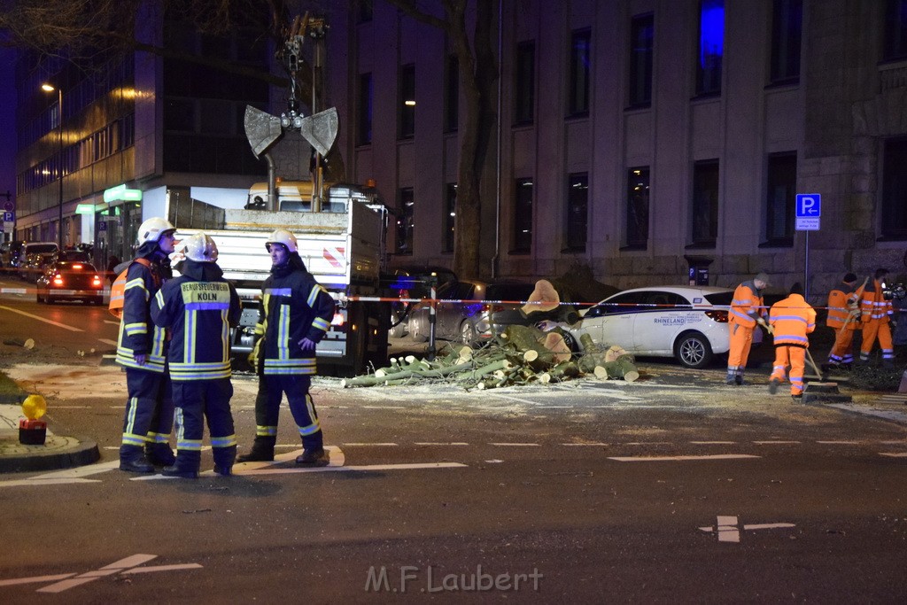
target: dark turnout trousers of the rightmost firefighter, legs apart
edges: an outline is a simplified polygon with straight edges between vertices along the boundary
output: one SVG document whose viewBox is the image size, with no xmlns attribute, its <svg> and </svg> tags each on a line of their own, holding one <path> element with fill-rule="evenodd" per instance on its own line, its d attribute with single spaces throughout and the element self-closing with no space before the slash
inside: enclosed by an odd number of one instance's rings
<svg viewBox="0 0 907 605">
<path fill-rule="evenodd" d="M 324 446 L 321 424 L 308 387 L 312 377 L 300 374 L 265 375 L 259 378 L 258 396 L 255 399 L 255 434 L 257 437 L 277 437 L 278 416 L 283 394 L 287 394 L 289 411 L 296 421 L 302 446 L 318 449 Z"/>
</svg>

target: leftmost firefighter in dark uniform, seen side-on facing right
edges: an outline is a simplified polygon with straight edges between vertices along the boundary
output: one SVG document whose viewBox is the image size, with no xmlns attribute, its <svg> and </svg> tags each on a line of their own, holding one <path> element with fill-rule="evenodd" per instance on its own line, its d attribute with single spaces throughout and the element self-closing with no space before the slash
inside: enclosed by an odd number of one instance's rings
<svg viewBox="0 0 907 605">
<path fill-rule="evenodd" d="M 171 277 L 170 261 L 176 240 L 173 225 L 152 218 L 139 227 L 135 259 L 121 265 L 126 270 L 120 336 L 116 363 L 126 370 L 129 400 L 122 426 L 120 468 L 131 473 L 152 473 L 154 465 L 173 464 L 169 444 L 173 426 L 173 400 L 165 356 L 163 328 L 151 322 L 151 299 Z"/>
</svg>

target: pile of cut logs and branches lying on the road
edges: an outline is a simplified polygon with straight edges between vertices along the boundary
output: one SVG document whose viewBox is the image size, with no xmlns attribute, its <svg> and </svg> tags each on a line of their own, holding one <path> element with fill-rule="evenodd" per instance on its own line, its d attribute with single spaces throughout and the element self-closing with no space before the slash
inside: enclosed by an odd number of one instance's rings
<svg viewBox="0 0 907 605">
<path fill-rule="evenodd" d="M 618 378 L 633 382 L 639 378 L 635 359 L 620 346 L 595 346 L 589 335 L 580 338 L 584 353 L 574 355 L 560 329 L 542 332 L 536 327 L 508 326 L 492 343 L 473 350 L 469 346 L 448 346 L 434 361 L 414 356 L 391 357 L 390 366 L 373 374 L 356 376 L 341 385 L 411 385 L 439 381 L 469 389 L 499 386 L 549 384 L 579 376 L 600 380 Z"/>
</svg>

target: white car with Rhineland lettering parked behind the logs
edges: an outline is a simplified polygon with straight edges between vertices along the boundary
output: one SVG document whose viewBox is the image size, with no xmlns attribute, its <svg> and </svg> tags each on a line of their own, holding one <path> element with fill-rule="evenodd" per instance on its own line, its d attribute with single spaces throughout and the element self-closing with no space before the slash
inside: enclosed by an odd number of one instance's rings
<svg viewBox="0 0 907 605">
<path fill-rule="evenodd" d="M 624 290 L 590 307 L 570 331 L 580 350 L 580 337 L 588 334 L 598 346 L 705 367 L 730 348 L 727 309 L 733 296 L 734 290 L 707 286 Z"/>
</svg>

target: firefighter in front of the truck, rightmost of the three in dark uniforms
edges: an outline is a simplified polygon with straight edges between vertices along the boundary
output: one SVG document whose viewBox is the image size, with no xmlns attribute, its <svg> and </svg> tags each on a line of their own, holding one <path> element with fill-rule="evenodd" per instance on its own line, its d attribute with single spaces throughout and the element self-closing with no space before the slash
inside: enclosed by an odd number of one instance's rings
<svg viewBox="0 0 907 605">
<path fill-rule="evenodd" d="M 308 388 L 316 374 L 315 346 L 330 327 L 334 299 L 308 272 L 292 233 L 277 229 L 265 245 L 272 267 L 262 287 L 256 327 L 261 337 L 252 356 L 260 376 L 255 443 L 239 462 L 274 460 L 280 401 L 286 393 L 302 438 L 303 452 L 296 463 L 326 464 L 324 437 Z"/>
</svg>

